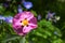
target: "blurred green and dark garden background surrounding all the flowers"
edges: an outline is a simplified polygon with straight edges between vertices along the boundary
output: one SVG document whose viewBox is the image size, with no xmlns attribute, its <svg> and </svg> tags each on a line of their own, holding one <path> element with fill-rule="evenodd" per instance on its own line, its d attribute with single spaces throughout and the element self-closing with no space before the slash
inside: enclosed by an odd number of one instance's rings
<svg viewBox="0 0 65 43">
<path fill-rule="evenodd" d="M 22 1 L 0 0 L 0 15 L 13 17 L 21 5 L 23 11 L 31 11 L 37 19 L 41 16 L 38 28 L 26 35 L 26 43 L 65 43 L 65 0 L 26 0 L 32 2 L 30 10 L 27 10 Z M 48 11 L 60 16 L 60 20 L 47 20 Z M 0 43 L 21 43 L 22 38 L 14 32 L 10 23 L 0 19 Z"/>
</svg>

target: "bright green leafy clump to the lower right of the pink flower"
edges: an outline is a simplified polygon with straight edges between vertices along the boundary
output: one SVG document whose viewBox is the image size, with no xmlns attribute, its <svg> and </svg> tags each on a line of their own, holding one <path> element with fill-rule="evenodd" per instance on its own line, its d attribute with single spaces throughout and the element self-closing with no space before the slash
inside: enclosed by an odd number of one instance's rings
<svg viewBox="0 0 65 43">
<path fill-rule="evenodd" d="M 56 33 L 54 33 L 56 31 Z M 29 33 L 34 43 L 60 43 L 62 33 L 51 22 L 42 19 L 38 22 L 38 28 Z M 38 42 L 39 41 L 39 42 Z"/>
</svg>

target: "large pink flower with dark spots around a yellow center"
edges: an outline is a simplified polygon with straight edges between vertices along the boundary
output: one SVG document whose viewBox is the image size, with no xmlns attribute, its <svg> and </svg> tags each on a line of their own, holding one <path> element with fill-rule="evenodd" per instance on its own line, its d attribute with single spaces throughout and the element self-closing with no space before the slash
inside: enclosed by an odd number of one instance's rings
<svg viewBox="0 0 65 43">
<path fill-rule="evenodd" d="M 37 18 L 31 12 L 24 11 L 13 17 L 12 25 L 18 35 L 26 35 L 29 31 L 37 28 Z"/>
</svg>

